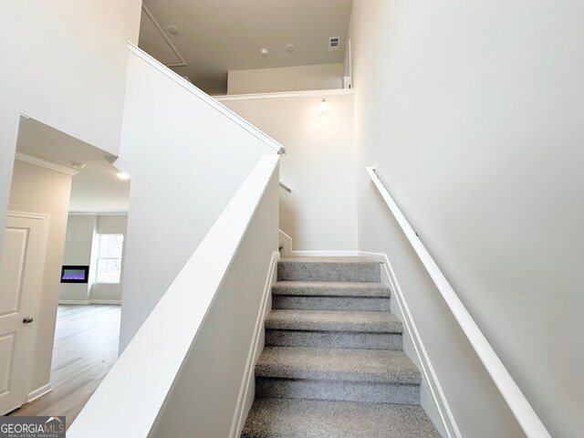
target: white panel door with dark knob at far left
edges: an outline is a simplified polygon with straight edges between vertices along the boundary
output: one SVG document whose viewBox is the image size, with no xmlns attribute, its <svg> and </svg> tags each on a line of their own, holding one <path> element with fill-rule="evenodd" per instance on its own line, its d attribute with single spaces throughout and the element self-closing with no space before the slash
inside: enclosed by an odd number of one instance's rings
<svg viewBox="0 0 584 438">
<path fill-rule="evenodd" d="M 0 258 L 0 414 L 28 401 L 47 216 L 8 213 Z"/>
</svg>

